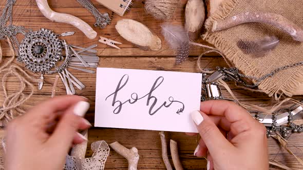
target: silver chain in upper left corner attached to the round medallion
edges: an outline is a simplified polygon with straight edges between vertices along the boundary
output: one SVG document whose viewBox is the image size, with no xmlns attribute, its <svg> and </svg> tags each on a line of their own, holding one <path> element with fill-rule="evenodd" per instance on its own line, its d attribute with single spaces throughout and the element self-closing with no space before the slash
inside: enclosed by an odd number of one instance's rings
<svg viewBox="0 0 303 170">
<path fill-rule="evenodd" d="M 31 29 L 25 29 L 23 26 L 12 25 L 12 11 L 13 5 L 16 0 L 7 0 L 5 7 L 3 8 L 2 15 L 0 17 L 0 39 L 10 38 L 13 44 L 13 48 L 16 54 L 18 54 L 18 49 L 20 43 L 16 38 L 18 33 L 26 34 L 31 31 Z"/>
</svg>

